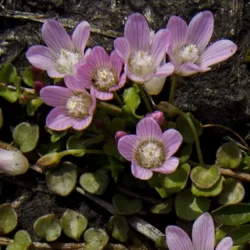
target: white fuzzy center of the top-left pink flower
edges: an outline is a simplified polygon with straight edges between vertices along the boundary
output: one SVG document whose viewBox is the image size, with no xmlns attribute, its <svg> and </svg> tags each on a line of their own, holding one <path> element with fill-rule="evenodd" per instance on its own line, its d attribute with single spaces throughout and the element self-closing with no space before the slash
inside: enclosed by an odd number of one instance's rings
<svg viewBox="0 0 250 250">
<path fill-rule="evenodd" d="M 56 65 L 57 70 L 61 74 L 73 73 L 73 66 L 78 63 L 81 55 L 69 50 L 61 50 L 60 55 L 57 57 Z"/>
</svg>

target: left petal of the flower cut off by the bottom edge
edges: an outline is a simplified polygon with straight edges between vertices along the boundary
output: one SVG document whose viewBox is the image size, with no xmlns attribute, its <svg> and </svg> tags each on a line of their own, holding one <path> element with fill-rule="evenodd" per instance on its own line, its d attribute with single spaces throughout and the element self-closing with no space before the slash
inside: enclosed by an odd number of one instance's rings
<svg viewBox="0 0 250 250">
<path fill-rule="evenodd" d="M 166 240 L 169 250 L 193 250 L 189 236 L 179 227 L 168 226 L 166 228 Z"/>
</svg>

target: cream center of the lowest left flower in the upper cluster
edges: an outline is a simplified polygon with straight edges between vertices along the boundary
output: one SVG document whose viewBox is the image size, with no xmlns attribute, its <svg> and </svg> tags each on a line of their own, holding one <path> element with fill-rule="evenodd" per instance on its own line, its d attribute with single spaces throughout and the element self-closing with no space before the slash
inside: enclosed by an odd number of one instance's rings
<svg viewBox="0 0 250 250">
<path fill-rule="evenodd" d="M 86 118 L 89 116 L 89 109 L 92 105 L 92 99 L 83 92 L 76 92 L 66 102 L 68 114 L 74 118 Z"/>
</svg>

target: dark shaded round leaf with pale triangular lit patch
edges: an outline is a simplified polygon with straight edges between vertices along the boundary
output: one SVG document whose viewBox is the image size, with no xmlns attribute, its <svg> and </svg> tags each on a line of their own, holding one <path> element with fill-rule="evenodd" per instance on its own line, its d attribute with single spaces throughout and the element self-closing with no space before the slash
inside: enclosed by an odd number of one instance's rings
<svg viewBox="0 0 250 250">
<path fill-rule="evenodd" d="M 210 201 L 205 197 L 196 197 L 190 189 L 186 189 L 175 197 L 175 212 L 181 219 L 191 221 L 198 218 L 210 207 Z"/>
</svg>

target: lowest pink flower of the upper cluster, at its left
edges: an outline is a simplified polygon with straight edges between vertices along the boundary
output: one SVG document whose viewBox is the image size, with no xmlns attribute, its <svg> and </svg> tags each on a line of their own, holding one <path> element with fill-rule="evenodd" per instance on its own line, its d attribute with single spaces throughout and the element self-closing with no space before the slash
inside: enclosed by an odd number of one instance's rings
<svg viewBox="0 0 250 250">
<path fill-rule="evenodd" d="M 76 81 L 75 76 L 65 76 L 68 88 L 59 86 L 44 87 L 40 91 L 42 100 L 55 107 L 46 119 L 46 125 L 53 130 L 75 130 L 87 128 L 93 118 L 96 99 Z"/>
</svg>

